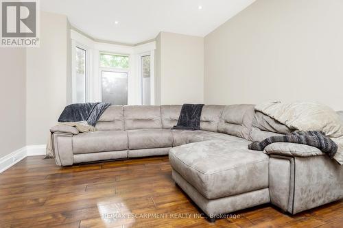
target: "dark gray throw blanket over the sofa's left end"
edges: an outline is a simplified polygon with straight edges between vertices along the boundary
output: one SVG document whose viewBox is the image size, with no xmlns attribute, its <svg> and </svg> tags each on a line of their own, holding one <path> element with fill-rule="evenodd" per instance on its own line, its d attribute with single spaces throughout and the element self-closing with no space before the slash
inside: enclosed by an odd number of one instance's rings
<svg viewBox="0 0 343 228">
<path fill-rule="evenodd" d="M 87 121 L 88 125 L 95 127 L 108 106 L 110 103 L 73 103 L 64 107 L 58 122 Z"/>
</svg>

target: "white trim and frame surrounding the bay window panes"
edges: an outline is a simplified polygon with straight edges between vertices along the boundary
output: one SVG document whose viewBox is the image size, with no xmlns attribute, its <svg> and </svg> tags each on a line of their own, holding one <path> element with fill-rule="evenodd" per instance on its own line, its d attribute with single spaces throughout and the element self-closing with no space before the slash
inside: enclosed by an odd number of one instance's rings
<svg viewBox="0 0 343 228">
<path fill-rule="evenodd" d="M 102 101 L 102 77 L 100 76 L 100 68 L 99 66 L 99 53 L 108 53 L 110 55 L 126 55 L 129 57 L 129 68 L 126 69 L 128 72 L 128 104 L 129 105 L 139 105 L 141 104 L 141 91 L 140 91 L 140 84 L 141 84 L 141 73 L 139 68 L 139 55 L 141 53 L 149 53 L 150 52 L 150 103 L 154 105 L 155 99 L 159 102 L 158 94 L 154 94 L 155 91 L 155 81 L 154 81 L 154 60 L 155 60 L 155 50 L 156 50 L 156 42 L 151 41 L 137 46 L 128 46 L 128 45 L 117 45 L 108 42 L 101 42 L 95 41 L 89 36 L 84 36 L 79 31 L 75 29 L 70 29 L 70 38 L 71 38 L 71 76 L 70 79 L 67 79 L 67 103 L 72 103 L 73 101 L 73 77 L 75 73 L 73 72 L 75 61 L 75 43 L 78 43 L 79 47 L 86 49 L 87 53 L 87 88 L 86 88 L 86 99 L 87 102 L 99 102 Z M 108 70 L 109 68 L 106 68 Z M 111 68 L 113 70 L 113 68 Z M 123 69 L 116 69 L 117 71 L 122 71 Z M 158 85 L 156 85 L 158 86 Z M 158 88 L 158 87 L 157 87 Z"/>
</svg>

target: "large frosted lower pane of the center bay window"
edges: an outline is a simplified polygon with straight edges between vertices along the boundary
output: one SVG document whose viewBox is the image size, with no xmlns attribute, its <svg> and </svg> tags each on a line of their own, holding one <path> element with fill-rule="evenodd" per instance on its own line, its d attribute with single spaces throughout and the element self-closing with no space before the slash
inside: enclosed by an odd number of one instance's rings
<svg viewBox="0 0 343 228">
<path fill-rule="evenodd" d="M 128 104 L 128 73 L 102 71 L 102 102 Z"/>
</svg>

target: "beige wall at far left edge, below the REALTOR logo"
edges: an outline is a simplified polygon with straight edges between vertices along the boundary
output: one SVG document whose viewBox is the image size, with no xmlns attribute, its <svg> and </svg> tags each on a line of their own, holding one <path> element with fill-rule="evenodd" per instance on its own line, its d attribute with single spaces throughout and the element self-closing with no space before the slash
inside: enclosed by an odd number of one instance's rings
<svg viewBox="0 0 343 228">
<path fill-rule="evenodd" d="M 0 158 L 26 145 L 26 51 L 0 48 Z"/>
</svg>

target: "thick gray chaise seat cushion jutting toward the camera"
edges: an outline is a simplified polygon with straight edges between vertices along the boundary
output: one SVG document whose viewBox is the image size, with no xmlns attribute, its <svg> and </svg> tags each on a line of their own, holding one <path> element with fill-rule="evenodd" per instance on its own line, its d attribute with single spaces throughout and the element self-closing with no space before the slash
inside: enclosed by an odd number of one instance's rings
<svg viewBox="0 0 343 228">
<path fill-rule="evenodd" d="M 171 166 L 206 199 L 268 188 L 268 155 L 248 140 L 209 140 L 174 147 Z"/>
</svg>

